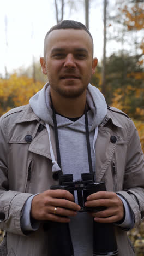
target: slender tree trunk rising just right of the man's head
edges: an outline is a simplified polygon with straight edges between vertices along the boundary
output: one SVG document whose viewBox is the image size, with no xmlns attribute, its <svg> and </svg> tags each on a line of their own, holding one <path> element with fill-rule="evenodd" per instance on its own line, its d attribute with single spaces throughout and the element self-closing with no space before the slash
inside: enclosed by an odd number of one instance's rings
<svg viewBox="0 0 144 256">
<path fill-rule="evenodd" d="M 104 49 L 103 49 L 103 67 L 102 67 L 102 84 L 101 91 L 105 95 L 106 84 L 105 84 L 105 74 L 106 74 L 106 7 L 107 0 L 104 0 Z"/>
</svg>

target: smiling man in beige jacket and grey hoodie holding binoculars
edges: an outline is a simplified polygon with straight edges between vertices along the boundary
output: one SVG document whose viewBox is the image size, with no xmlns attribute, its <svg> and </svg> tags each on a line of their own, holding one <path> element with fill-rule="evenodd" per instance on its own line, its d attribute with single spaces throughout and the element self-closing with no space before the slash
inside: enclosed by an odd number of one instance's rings
<svg viewBox="0 0 144 256">
<path fill-rule="evenodd" d="M 127 230 L 144 215 L 143 153 L 131 119 L 107 109 L 103 95 L 89 84 L 97 66 L 91 34 L 80 22 L 62 21 L 46 34 L 40 63 L 49 83 L 27 106 L 1 118 L 0 228 L 7 231 L 1 251 L 68 255 L 52 252 L 67 239 L 58 229 L 63 224 L 70 228 L 70 255 L 96 255 L 94 219 L 115 226 L 118 254 L 109 255 L 135 255 Z M 87 197 L 87 209 L 105 207 L 88 214 L 79 212 L 76 194 L 74 202 L 70 191 L 50 187 L 57 187 L 63 174 L 73 174 L 75 181 L 89 170 L 95 182 L 105 182 L 106 191 Z"/>
</svg>

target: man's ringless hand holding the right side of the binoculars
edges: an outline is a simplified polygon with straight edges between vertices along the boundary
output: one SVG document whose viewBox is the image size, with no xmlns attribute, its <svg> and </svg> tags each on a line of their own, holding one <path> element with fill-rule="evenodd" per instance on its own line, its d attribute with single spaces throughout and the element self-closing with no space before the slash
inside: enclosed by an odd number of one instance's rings
<svg viewBox="0 0 144 256">
<path fill-rule="evenodd" d="M 114 192 L 100 191 L 87 197 L 86 207 L 106 206 L 106 210 L 91 212 L 95 222 L 113 223 L 119 222 L 124 217 L 122 200 Z"/>
</svg>

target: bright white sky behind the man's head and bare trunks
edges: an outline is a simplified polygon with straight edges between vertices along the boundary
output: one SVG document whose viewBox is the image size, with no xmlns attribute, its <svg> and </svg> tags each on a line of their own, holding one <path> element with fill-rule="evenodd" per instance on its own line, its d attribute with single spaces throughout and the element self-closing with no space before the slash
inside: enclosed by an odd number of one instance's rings
<svg viewBox="0 0 144 256">
<path fill-rule="evenodd" d="M 85 24 L 85 11 L 81 2 L 76 1 L 77 10 L 65 8 L 64 19 Z M 38 61 L 43 56 L 45 34 L 55 24 L 54 0 L 1 0 L 0 74 L 5 74 L 5 65 L 8 73 L 13 73 L 20 67 L 31 65 L 33 56 Z M 100 61 L 103 54 L 103 0 L 91 0 L 89 30 L 94 40 L 94 56 Z"/>
</svg>

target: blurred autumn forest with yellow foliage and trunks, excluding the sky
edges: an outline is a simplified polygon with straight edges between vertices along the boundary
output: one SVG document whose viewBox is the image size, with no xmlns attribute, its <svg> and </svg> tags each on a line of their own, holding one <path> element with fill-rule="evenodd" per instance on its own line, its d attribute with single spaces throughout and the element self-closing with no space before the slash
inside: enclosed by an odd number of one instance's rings
<svg viewBox="0 0 144 256">
<path fill-rule="evenodd" d="M 89 7 L 93 0 L 78 2 L 83 5 L 85 24 L 89 28 Z M 143 0 L 115 0 L 115 10 L 110 8 L 108 0 L 103 0 L 103 5 L 103 59 L 91 83 L 103 92 L 108 105 L 121 109 L 133 119 L 144 151 L 144 3 Z M 79 11 L 76 0 L 53 0 L 56 22 L 64 19 L 66 7 Z M 7 36 L 7 19 L 5 34 Z M 107 56 L 109 43 L 117 43 L 120 47 Z M 8 45 L 7 37 L 5 44 Z M 0 116 L 11 108 L 27 104 L 47 81 L 34 56 L 27 69 L 19 68 L 9 73 L 5 64 L 4 70 L 5 73 L 0 74 Z M 2 231 L 1 234 L 3 236 Z M 144 255 L 143 223 L 130 231 L 129 237 L 136 255 Z"/>
</svg>

